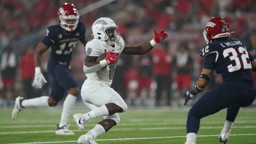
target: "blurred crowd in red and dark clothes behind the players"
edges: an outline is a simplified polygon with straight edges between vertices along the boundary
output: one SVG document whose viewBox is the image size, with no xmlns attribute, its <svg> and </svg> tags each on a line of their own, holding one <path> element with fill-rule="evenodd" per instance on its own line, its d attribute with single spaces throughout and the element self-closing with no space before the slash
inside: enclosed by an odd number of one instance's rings
<svg viewBox="0 0 256 144">
<path fill-rule="evenodd" d="M 17 41 L 58 24 L 58 8 L 65 2 L 80 10 L 101 0 L 0 1 L 0 107 L 12 106 L 19 95 L 27 98 L 49 95 L 51 78 L 46 70 L 49 53 L 44 54 L 41 64 L 48 83 L 43 89 L 32 87 L 33 53 L 43 37 L 23 45 Z M 231 38 L 242 40 L 256 57 L 255 0 L 113 0 L 80 16 L 88 40 L 93 39 L 91 26 L 100 17 L 115 21 L 126 45 L 152 40 L 154 29 L 164 29 L 169 35 L 148 54 L 123 54 L 118 60 L 111 87 L 130 106 L 183 105 L 183 94 L 192 88 L 202 70 L 203 59 L 198 50 L 206 44 L 202 32 L 212 17 L 226 18 L 231 31 L 235 31 Z M 70 70 L 80 87 L 86 79 L 85 56 L 84 47 L 79 44 L 73 51 Z M 256 82 L 255 74 L 254 78 Z M 221 76 L 214 73 L 203 92 L 221 82 Z"/>
</svg>

